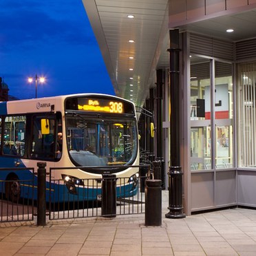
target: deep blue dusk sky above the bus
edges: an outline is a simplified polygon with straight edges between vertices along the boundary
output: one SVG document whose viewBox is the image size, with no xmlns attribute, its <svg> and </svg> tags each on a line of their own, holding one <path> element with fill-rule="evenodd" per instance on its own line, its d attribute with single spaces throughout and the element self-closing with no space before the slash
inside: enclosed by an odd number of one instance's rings
<svg viewBox="0 0 256 256">
<path fill-rule="evenodd" d="M 46 78 L 38 98 L 114 94 L 81 0 L 0 1 L 0 76 L 9 94 L 34 98 L 27 79 L 36 74 Z"/>
</svg>

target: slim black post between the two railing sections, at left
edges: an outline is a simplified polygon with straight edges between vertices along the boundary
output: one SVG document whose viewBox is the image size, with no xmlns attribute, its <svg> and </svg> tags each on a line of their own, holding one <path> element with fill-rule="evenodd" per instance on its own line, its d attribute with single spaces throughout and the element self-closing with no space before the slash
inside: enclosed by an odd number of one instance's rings
<svg viewBox="0 0 256 256">
<path fill-rule="evenodd" d="M 37 163 L 37 226 L 45 226 L 46 223 L 46 162 Z"/>
</svg>

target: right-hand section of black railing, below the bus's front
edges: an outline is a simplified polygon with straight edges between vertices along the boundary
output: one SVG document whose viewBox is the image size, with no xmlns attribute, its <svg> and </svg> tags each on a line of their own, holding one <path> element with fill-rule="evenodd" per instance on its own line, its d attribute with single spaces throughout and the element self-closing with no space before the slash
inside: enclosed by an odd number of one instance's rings
<svg viewBox="0 0 256 256">
<path fill-rule="evenodd" d="M 50 220 L 79 217 L 115 217 L 145 213 L 145 180 L 150 175 L 150 165 L 129 166 L 139 168 L 144 175 L 134 179 L 116 178 L 116 175 L 103 175 L 98 179 L 50 181 Z M 86 169 L 107 169 L 120 167 L 80 167 Z M 123 166 L 121 168 L 124 168 Z M 127 167 L 126 167 L 127 168 Z M 50 168 L 50 177 L 56 170 L 76 168 Z M 146 169 L 146 170 L 145 170 Z M 140 173 L 139 171 L 139 173 Z M 67 193 L 68 191 L 68 193 Z"/>
</svg>

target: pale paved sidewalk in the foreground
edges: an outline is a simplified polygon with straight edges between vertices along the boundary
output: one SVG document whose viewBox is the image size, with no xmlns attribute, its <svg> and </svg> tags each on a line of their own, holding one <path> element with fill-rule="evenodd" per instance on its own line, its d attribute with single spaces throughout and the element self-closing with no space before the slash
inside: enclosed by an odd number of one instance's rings
<svg viewBox="0 0 256 256">
<path fill-rule="evenodd" d="M 255 210 L 173 220 L 167 206 L 162 226 L 145 226 L 144 214 L 1 224 L 0 255 L 256 255 Z"/>
</svg>

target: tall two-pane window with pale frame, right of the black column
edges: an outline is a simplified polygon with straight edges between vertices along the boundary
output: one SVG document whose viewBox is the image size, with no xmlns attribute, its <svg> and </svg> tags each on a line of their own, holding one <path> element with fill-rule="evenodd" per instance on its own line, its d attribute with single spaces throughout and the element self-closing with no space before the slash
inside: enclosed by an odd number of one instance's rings
<svg viewBox="0 0 256 256">
<path fill-rule="evenodd" d="M 191 170 L 233 167 L 232 65 L 191 56 Z"/>
</svg>

